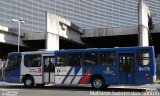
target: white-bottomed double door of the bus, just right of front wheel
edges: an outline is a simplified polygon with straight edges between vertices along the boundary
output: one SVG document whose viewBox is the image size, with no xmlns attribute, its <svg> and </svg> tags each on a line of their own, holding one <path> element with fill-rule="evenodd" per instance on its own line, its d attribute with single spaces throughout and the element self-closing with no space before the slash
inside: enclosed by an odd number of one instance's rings
<svg viewBox="0 0 160 96">
<path fill-rule="evenodd" d="M 55 57 L 43 56 L 43 82 L 54 83 L 55 82 Z"/>
</svg>

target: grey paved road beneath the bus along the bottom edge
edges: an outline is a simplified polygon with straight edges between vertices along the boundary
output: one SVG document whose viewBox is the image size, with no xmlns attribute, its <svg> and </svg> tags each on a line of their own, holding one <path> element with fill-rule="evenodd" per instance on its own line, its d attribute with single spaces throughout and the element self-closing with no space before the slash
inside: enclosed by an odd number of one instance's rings
<svg viewBox="0 0 160 96">
<path fill-rule="evenodd" d="M 0 83 L 0 96 L 124 96 L 135 92 L 136 95 L 152 92 L 146 96 L 160 96 L 159 85 L 144 86 L 111 86 L 101 91 L 84 86 L 45 86 L 43 88 L 25 88 L 22 85 L 8 85 Z M 128 95 L 125 95 L 128 96 Z"/>
</svg>

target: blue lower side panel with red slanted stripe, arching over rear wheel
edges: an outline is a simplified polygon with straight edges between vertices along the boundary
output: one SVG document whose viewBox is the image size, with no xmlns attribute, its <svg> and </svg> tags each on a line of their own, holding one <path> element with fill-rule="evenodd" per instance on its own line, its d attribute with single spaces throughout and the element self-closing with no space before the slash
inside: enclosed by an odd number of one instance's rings
<svg viewBox="0 0 160 96">
<path fill-rule="evenodd" d="M 92 66 L 82 67 L 82 77 L 79 84 L 89 84 L 89 80 L 92 76 L 101 75 L 105 84 L 118 84 L 118 74 L 115 66 Z"/>
</svg>

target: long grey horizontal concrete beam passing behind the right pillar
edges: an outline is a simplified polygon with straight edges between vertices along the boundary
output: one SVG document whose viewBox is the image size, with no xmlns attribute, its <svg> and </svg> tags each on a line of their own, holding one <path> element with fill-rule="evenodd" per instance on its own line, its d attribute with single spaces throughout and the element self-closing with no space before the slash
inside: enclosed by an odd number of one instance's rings
<svg viewBox="0 0 160 96">
<path fill-rule="evenodd" d="M 151 33 L 160 33 L 160 24 L 155 24 L 153 26 L 154 29 L 151 31 Z M 138 26 L 84 29 L 84 33 L 81 35 L 81 38 L 134 35 L 138 33 L 139 33 Z"/>
</svg>

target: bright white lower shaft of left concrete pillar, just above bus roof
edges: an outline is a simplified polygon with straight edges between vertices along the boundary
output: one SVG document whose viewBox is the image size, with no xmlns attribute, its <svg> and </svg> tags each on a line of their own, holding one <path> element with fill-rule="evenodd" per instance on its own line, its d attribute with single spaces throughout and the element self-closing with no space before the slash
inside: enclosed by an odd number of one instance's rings
<svg viewBox="0 0 160 96">
<path fill-rule="evenodd" d="M 46 49 L 47 51 L 59 50 L 59 36 L 54 33 L 47 32 L 46 34 Z"/>
</svg>

